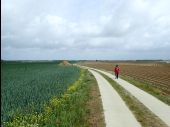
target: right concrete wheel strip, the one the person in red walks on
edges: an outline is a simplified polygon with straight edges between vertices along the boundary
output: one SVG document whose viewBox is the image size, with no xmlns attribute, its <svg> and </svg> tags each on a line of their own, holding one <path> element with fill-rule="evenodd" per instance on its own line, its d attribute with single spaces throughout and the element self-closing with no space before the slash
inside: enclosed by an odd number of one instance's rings
<svg viewBox="0 0 170 127">
<path fill-rule="evenodd" d="M 141 103 L 143 103 L 150 111 L 152 111 L 156 116 L 158 116 L 162 121 L 164 121 L 170 127 L 170 106 L 163 103 L 162 101 L 158 100 L 154 96 L 148 94 L 147 92 L 137 88 L 136 86 L 128 83 L 127 81 L 119 78 L 115 79 L 113 74 L 108 72 L 95 69 L 84 67 L 87 69 L 93 69 L 99 71 L 108 77 L 112 78 L 116 81 L 119 85 L 125 88 L 128 92 L 130 92 L 134 97 L 136 97 Z"/>
</svg>

